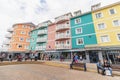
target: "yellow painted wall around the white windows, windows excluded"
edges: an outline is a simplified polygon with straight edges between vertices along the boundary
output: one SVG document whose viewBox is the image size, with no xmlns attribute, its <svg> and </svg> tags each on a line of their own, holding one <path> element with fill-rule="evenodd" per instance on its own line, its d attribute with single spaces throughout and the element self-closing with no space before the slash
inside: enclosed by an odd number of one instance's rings
<svg viewBox="0 0 120 80">
<path fill-rule="evenodd" d="M 110 9 L 115 9 L 116 13 L 111 15 L 109 13 Z M 102 13 L 103 17 L 97 19 L 95 17 L 95 14 L 99 13 L 99 12 Z M 113 25 L 113 20 L 119 20 L 119 24 L 120 24 L 120 4 L 110 6 L 107 8 L 103 8 L 98 11 L 94 11 L 94 12 L 92 12 L 92 16 L 93 16 L 93 22 L 94 22 L 94 26 L 95 26 L 95 32 L 96 32 L 96 36 L 97 36 L 98 46 L 120 45 L 120 40 L 118 40 L 118 38 L 117 38 L 117 34 L 120 33 L 120 25 L 119 26 Z M 98 29 L 99 23 L 105 23 L 106 28 L 104 28 L 102 30 Z M 100 37 L 103 35 L 109 36 L 109 42 L 101 41 Z"/>
</svg>

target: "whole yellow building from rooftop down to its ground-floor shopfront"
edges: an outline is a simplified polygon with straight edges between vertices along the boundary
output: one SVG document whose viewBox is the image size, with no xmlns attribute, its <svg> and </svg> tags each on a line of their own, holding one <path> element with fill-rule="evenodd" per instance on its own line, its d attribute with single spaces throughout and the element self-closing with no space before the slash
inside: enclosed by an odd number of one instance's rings
<svg viewBox="0 0 120 80">
<path fill-rule="evenodd" d="M 120 57 L 120 2 L 108 6 L 92 7 L 92 16 L 97 36 L 97 45 L 101 60 L 107 59 L 111 63 L 118 63 Z"/>
</svg>

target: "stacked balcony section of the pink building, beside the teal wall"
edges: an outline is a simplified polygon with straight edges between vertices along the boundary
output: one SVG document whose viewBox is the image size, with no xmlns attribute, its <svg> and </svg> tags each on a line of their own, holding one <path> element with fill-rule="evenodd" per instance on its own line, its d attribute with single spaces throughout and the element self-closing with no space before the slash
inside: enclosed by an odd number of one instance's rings
<svg viewBox="0 0 120 80">
<path fill-rule="evenodd" d="M 56 49 L 71 49 L 71 32 L 70 32 L 70 18 L 71 13 L 67 13 L 55 18 L 56 35 L 55 47 Z"/>
</svg>

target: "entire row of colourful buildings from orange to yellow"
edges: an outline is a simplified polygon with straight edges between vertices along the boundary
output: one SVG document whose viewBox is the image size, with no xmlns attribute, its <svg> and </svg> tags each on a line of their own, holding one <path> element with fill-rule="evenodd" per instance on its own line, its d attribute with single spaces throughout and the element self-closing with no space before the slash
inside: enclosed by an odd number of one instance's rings
<svg viewBox="0 0 120 80">
<path fill-rule="evenodd" d="M 120 64 L 120 2 L 104 7 L 96 4 L 89 12 L 67 13 L 54 22 L 14 24 L 8 31 L 8 51 L 12 53 L 37 51 L 68 60 L 76 53 L 86 62 L 108 59 Z"/>
</svg>

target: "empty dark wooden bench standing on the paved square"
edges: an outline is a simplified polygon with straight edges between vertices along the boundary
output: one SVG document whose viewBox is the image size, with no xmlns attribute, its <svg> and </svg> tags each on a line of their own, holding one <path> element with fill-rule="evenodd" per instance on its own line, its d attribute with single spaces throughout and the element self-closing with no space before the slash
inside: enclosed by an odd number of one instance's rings
<svg viewBox="0 0 120 80">
<path fill-rule="evenodd" d="M 73 63 L 73 64 L 71 63 L 70 69 L 79 69 L 79 70 L 87 71 L 86 63 Z"/>
</svg>

